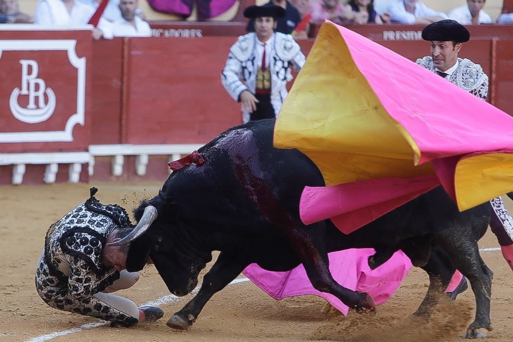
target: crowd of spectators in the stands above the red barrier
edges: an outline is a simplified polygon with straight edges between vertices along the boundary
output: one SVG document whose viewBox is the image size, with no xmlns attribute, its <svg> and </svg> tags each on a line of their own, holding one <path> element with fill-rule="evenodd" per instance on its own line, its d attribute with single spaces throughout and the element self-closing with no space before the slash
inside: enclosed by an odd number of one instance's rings
<svg viewBox="0 0 513 342">
<path fill-rule="evenodd" d="M 470 16 L 471 11 L 479 11 L 477 17 L 479 20 L 476 19 L 479 23 L 496 23 L 499 20 L 501 24 L 505 24 L 511 21 L 511 16 L 509 16 L 511 0 L 452 0 L 449 2 L 441 0 L 291 0 L 286 3 L 285 0 L 283 2 L 281 0 L 272 1 L 296 7 L 302 17 L 312 14 L 313 22 L 320 19 L 318 17 L 319 10 L 328 11 L 329 18 L 332 21 L 353 24 L 413 23 L 412 17 L 426 13 L 439 13 L 442 18 L 448 16 L 459 22 L 463 20 L 464 22 L 461 23 L 466 25 L 465 21 L 467 16 Z M 43 4 L 46 3 L 76 2 L 80 5 L 95 8 L 98 3 L 101 3 L 101 0 L 2 0 L 2 2 L 5 3 L 5 8 L 0 7 L 0 23 L 27 23 L 38 16 L 38 10 L 44 7 Z M 18 2 L 21 2 L 24 11 L 19 11 Z M 202 5 L 207 6 L 204 9 L 200 8 L 199 5 L 198 7 L 193 6 L 194 2 L 166 2 L 162 0 L 137 0 L 136 2 L 138 6 L 137 16 L 147 21 L 161 21 L 164 19 L 167 21 L 246 22 L 242 16 L 244 8 L 253 4 L 265 4 L 266 0 L 217 0 Z M 119 4 L 120 0 L 109 0 L 103 18 L 110 22 L 121 19 Z M 329 6 L 333 6 L 333 4 L 336 6 L 336 11 L 341 11 L 341 17 L 333 15 L 333 12 L 329 9 Z M 398 4 L 399 6 L 396 6 Z M 184 6 L 189 8 L 186 9 Z M 412 8 L 411 12 L 413 14 L 407 13 L 406 8 L 408 6 Z M 16 11 L 12 10 L 14 7 Z M 398 9 L 402 13 L 398 14 Z M 311 13 L 312 10 L 316 13 Z M 20 15 L 14 15 L 16 13 Z M 403 20 L 406 20 L 406 22 Z M 417 23 L 426 24 L 428 22 L 417 21 Z"/>
</svg>

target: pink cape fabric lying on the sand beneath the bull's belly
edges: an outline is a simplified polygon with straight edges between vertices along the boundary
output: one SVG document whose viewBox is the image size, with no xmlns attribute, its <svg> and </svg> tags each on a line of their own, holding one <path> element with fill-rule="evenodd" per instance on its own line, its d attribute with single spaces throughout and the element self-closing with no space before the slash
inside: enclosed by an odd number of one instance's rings
<svg viewBox="0 0 513 342">
<path fill-rule="evenodd" d="M 380 305 L 401 285 L 401 281 L 411 268 L 411 262 L 399 251 L 387 263 L 376 270 L 371 270 L 367 265 L 367 257 L 372 254 L 374 250 L 370 248 L 329 253 L 329 269 L 340 285 L 351 290 L 367 292 L 376 304 Z M 274 299 L 313 294 L 323 297 L 343 314 L 347 314 L 349 310 L 337 297 L 315 290 L 302 265 L 288 272 L 269 272 L 257 264 L 251 264 L 243 273 Z"/>
</svg>

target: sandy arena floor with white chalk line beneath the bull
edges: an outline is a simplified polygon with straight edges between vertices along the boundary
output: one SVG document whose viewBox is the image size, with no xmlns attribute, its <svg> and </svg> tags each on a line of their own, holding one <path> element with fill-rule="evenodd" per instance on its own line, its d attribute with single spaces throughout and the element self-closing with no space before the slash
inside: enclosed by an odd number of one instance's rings
<svg viewBox="0 0 513 342">
<path fill-rule="evenodd" d="M 138 305 L 157 301 L 165 317 L 156 323 L 131 328 L 110 328 L 102 321 L 48 307 L 34 288 L 34 270 L 48 226 L 89 196 L 89 187 L 100 189 L 96 197 L 104 204 L 117 203 L 131 212 L 139 200 L 156 194 L 162 182 L 54 184 L 0 186 L 0 340 L 9 341 L 462 341 L 474 316 L 470 290 L 456 302 L 439 306 L 429 325 L 409 319 L 427 289 L 427 276 L 412 269 L 399 291 L 378 307 L 376 316 L 350 314 L 326 317 L 325 301 L 299 296 L 277 301 L 250 281 L 229 285 L 207 303 L 196 323 L 187 331 L 174 331 L 166 320 L 191 298 L 169 296 L 152 266 L 143 270 L 134 287 L 121 292 Z M 505 199 L 513 212 L 513 203 Z M 480 248 L 497 248 L 488 232 Z M 494 271 L 490 342 L 513 340 L 513 280 L 500 251 L 483 251 Z"/>
</svg>

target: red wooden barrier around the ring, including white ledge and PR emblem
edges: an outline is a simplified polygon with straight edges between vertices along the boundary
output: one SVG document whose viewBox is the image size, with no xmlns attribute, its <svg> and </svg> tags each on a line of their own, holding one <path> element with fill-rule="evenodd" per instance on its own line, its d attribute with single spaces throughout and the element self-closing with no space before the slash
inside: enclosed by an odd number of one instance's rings
<svg viewBox="0 0 513 342">
<path fill-rule="evenodd" d="M 98 41 L 90 27 L 1 27 L 8 81 L 0 85 L 0 106 L 12 115 L 0 117 L 0 184 L 164 179 L 169 160 L 241 123 L 240 105 L 219 75 L 246 22 L 150 25 L 151 38 Z M 345 26 L 411 61 L 426 50 L 424 25 Z M 310 23 L 307 39 L 298 41 L 305 54 L 319 28 Z M 489 75 L 488 102 L 513 114 L 513 26 L 468 28 L 463 56 Z M 29 117 L 35 112 L 50 118 Z"/>
</svg>

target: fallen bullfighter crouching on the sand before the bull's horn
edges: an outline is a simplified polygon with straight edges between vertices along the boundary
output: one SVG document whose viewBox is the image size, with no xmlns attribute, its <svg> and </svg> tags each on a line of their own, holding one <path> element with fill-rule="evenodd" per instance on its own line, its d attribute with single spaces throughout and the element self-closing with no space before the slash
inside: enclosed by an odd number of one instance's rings
<svg viewBox="0 0 513 342">
<path fill-rule="evenodd" d="M 137 308 L 133 301 L 110 294 L 139 280 L 127 272 L 129 246 L 112 247 L 133 229 L 120 206 L 103 205 L 91 196 L 50 226 L 35 274 L 37 293 L 50 307 L 131 326 L 153 321 L 164 312 Z"/>
</svg>

